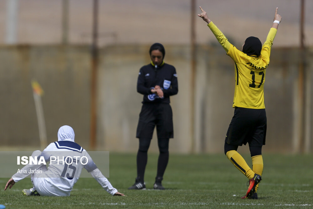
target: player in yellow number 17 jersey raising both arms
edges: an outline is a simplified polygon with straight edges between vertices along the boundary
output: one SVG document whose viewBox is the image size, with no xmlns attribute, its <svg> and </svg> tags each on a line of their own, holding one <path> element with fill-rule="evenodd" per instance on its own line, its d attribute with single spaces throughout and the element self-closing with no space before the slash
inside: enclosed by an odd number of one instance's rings
<svg viewBox="0 0 313 209">
<path fill-rule="evenodd" d="M 266 136 L 266 113 L 264 106 L 264 81 L 269 65 L 270 50 L 275 38 L 281 16 L 276 8 L 274 23 L 265 43 L 253 36 L 248 37 L 242 51 L 228 42 L 224 34 L 208 18 L 200 7 L 198 14 L 211 29 L 227 55 L 235 62 L 235 93 L 233 100 L 234 116 L 229 124 L 224 151 L 233 165 L 249 179 L 247 194 L 242 198 L 258 199 L 256 193 L 263 173 L 262 145 Z M 252 169 L 237 152 L 238 146 L 249 144 Z"/>
</svg>

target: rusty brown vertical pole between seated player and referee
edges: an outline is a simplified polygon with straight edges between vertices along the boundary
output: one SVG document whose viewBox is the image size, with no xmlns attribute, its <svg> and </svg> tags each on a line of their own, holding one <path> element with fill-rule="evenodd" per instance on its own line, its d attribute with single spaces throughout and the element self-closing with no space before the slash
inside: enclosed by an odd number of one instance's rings
<svg viewBox="0 0 313 209">
<path fill-rule="evenodd" d="M 93 29 L 91 45 L 91 104 L 90 104 L 90 148 L 95 149 L 97 132 L 97 68 L 98 68 L 98 0 L 93 1 Z"/>
</svg>

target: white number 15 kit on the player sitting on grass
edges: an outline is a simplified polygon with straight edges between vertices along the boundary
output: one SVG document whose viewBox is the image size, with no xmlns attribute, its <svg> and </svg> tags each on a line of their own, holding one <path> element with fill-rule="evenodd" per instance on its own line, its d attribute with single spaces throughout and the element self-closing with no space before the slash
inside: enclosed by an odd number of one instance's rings
<svg viewBox="0 0 313 209">
<path fill-rule="evenodd" d="M 38 156 L 50 161 L 48 169 L 45 165 L 26 165 L 23 169 L 43 169 L 42 174 L 34 175 L 33 185 L 42 196 L 69 196 L 80 173 L 85 168 L 99 184 L 111 195 L 117 190 L 101 174 L 90 155 L 79 144 L 72 140 L 62 140 L 49 144 Z M 16 173 L 12 176 L 15 182 L 29 174 Z"/>
</svg>

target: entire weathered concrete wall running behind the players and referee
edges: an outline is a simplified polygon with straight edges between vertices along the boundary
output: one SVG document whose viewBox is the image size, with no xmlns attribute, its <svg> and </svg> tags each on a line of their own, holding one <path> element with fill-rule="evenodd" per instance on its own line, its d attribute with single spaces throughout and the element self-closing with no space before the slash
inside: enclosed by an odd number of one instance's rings
<svg viewBox="0 0 313 209">
<path fill-rule="evenodd" d="M 221 47 L 197 48 L 195 136 L 191 134 L 190 48 L 165 45 L 165 62 L 174 65 L 179 92 L 171 97 L 174 139 L 170 152 L 223 152 L 233 116 L 234 66 Z M 142 95 L 136 92 L 139 68 L 150 62 L 148 45 L 108 46 L 99 50 L 97 76 L 97 149 L 136 152 L 136 126 Z M 299 102 L 300 65 L 297 49 L 273 49 L 264 84 L 268 126 L 264 152 L 312 151 L 312 50 L 305 54 L 305 102 Z M 89 148 L 89 46 L 0 47 L 0 146 L 37 146 L 38 123 L 30 82 L 36 79 L 42 97 L 48 141 L 58 128 L 70 125 L 75 140 Z M 300 81 L 301 83 L 301 81 Z M 300 92 L 300 94 L 299 94 Z M 305 110 L 306 118 L 299 117 Z M 299 124 L 305 127 L 301 131 Z M 301 140 L 300 133 L 304 133 Z M 194 142 L 192 142 L 194 138 Z M 194 150 L 192 150 L 194 144 Z M 247 151 L 248 148 L 239 148 Z M 157 151 L 156 134 L 151 151 Z"/>
</svg>

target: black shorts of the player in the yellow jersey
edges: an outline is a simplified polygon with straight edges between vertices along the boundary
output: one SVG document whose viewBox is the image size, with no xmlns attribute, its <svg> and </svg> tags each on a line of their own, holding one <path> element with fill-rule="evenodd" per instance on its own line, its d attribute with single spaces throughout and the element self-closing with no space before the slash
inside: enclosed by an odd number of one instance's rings
<svg viewBox="0 0 313 209">
<path fill-rule="evenodd" d="M 265 109 L 235 107 L 234 116 L 229 124 L 225 143 L 241 146 L 259 147 L 265 144 L 266 112 Z"/>
</svg>

